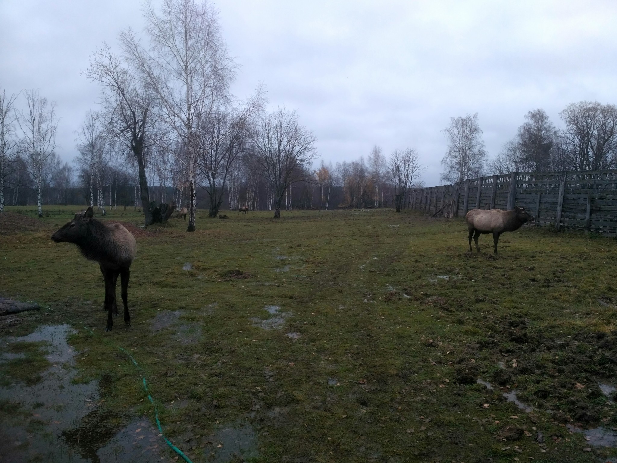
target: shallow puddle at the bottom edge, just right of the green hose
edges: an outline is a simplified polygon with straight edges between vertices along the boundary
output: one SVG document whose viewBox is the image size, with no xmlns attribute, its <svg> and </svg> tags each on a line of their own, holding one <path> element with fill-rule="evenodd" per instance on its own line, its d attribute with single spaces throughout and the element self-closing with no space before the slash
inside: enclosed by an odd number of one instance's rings
<svg viewBox="0 0 617 463">
<path fill-rule="evenodd" d="M 207 438 L 204 448 L 206 461 L 227 463 L 245 461 L 259 456 L 257 435 L 251 426 L 223 428 Z"/>
</svg>

